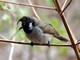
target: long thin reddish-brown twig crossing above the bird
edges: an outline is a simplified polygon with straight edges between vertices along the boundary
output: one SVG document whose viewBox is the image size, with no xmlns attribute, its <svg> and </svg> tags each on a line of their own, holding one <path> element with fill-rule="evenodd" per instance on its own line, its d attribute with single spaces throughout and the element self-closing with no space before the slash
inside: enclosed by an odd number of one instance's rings
<svg viewBox="0 0 80 60">
<path fill-rule="evenodd" d="M 56 10 L 56 8 L 46 7 L 46 6 L 30 5 L 30 4 L 24 4 L 24 3 L 18 3 L 18 2 L 3 1 L 3 0 L 0 1 L 0 2 L 10 3 L 10 4 L 15 4 L 15 5 L 22 5 L 22 6 L 35 7 L 35 8 L 42 8 L 42 9 Z"/>
</svg>

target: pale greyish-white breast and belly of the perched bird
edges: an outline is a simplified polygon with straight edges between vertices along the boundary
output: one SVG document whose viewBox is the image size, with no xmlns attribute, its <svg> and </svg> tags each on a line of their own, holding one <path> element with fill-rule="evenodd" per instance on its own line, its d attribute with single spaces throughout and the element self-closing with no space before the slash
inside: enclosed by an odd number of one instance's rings
<svg viewBox="0 0 80 60">
<path fill-rule="evenodd" d="M 44 34 L 39 27 L 35 27 L 32 33 L 27 36 L 33 43 L 48 43 L 50 40 L 50 36 L 48 36 L 48 34 Z"/>
</svg>

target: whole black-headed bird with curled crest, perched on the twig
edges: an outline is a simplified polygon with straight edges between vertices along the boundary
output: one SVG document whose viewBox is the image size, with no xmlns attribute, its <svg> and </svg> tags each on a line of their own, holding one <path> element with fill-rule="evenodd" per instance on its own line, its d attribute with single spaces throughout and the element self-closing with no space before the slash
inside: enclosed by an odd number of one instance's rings
<svg viewBox="0 0 80 60">
<path fill-rule="evenodd" d="M 23 29 L 27 38 L 31 41 L 31 45 L 38 44 L 50 44 L 51 37 L 55 37 L 58 40 L 68 42 L 68 39 L 58 33 L 58 31 L 49 23 L 38 20 L 35 17 L 23 16 L 17 22 L 21 22 L 19 30 Z"/>
</svg>

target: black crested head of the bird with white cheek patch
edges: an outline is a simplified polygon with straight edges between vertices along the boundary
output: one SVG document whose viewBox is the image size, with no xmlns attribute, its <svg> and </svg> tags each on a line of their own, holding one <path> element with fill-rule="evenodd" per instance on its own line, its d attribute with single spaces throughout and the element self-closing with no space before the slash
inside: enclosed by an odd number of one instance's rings
<svg viewBox="0 0 80 60">
<path fill-rule="evenodd" d="M 33 18 L 28 17 L 28 16 L 22 17 L 22 18 L 17 22 L 17 24 L 18 24 L 19 22 L 22 22 L 22 29 L 23 29 L 26 33 L 32 31 L 33 28 L 35 27 L 35 22 L 34 22 Z"/>
</svg>

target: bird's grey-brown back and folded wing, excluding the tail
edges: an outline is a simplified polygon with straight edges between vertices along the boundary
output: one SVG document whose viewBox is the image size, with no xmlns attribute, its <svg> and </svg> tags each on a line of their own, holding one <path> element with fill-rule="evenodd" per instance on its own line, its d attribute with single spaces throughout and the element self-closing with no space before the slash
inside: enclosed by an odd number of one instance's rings
<svg viewBox="0 0 80 60">
<path fill-rule="evenodd" d="M 40 20 L 38 20 L 35 17 L 33 17 L 33 20 L 36 23 L 36 25 L 38 25 L 43 30 L 43 33 L 59 35 L 59 33 L 57 32 L 57 30 L 51 24 L 46 23 L 44 21 L 40 21 Z"/>
</svg>

